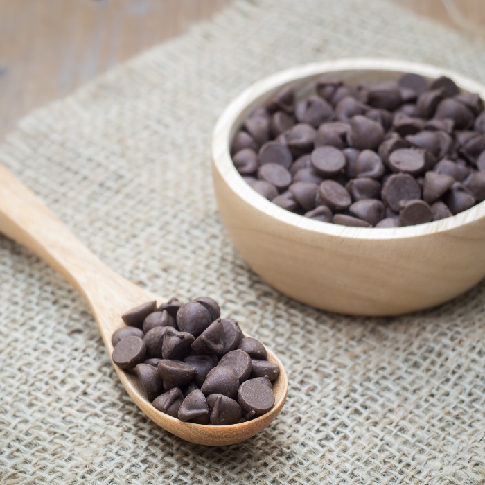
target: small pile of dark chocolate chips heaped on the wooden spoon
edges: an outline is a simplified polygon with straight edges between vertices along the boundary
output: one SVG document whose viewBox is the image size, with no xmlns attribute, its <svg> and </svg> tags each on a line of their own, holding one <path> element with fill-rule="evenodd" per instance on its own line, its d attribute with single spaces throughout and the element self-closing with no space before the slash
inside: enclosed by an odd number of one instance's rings
<svg viewBox="0 0 485 485">
<path fill-rule="evenodd" d="M 123 315 L 112 335 L 113 362 L 135 369 L 153 407 L 182 421 L 230 425 L 270 411 L 279 367 L 263 344 L 244 337 L 236 320 L 220 318 L 209 297 Z"/>
</svg>

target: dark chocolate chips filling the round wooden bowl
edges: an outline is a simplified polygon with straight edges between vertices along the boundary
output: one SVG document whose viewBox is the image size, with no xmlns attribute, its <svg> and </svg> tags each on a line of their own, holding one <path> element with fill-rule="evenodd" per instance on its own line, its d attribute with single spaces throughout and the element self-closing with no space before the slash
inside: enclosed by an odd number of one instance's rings
<svg viewBox="0 0 485 485">
<path fill-rule="evenodd" d="M 485 199 L 485 112 L 450 78 L 351 89 L 283 88 L 234 136 L 233 164 L 255 191 L 307 218 L 356 227 L 439 220 Z"/>
</svg>

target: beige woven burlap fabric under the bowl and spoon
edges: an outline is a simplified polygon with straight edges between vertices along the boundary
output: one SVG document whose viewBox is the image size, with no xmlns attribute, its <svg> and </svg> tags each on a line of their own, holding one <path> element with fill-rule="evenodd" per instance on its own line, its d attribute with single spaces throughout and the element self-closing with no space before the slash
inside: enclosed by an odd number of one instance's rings
<svg viewBox="0 0 485 485">
<path fill-rule="evenodd" d="M 290 378 L 281 415 L 245 443 L 177 439 L 127 396 L 78 294 L 2 236 L 2 484 L 484 483 L 484 283 L 416 315 L 333 315 L 263 283 L 218 218 L 209 140 L 229 100 L 279 69 L 355 55 L 485 81 L 485 44 L 385 1 L 242 1 L 35 112 L 1 146 L 114 270 L 167 297 L 215 297 Z"/>
</svg>

